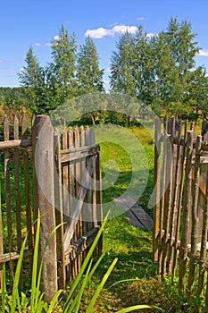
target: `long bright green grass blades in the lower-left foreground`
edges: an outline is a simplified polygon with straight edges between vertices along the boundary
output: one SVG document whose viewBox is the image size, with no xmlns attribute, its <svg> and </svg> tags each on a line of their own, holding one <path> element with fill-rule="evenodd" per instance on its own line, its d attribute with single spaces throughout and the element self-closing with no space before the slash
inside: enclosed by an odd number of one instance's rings
<svg viewBox="0 0 208 313">
<path fill-rule="evenodd" d="M 96 244 L 100 239 L 101 234 L 104 231 L 105 224 L 107 222 L 109 213 L 107 216 L 105 216 L 104 223 L 102 224 L 99 232 L 97 233 L 96 239 L 93 242 L 93 244 L 90 247 L 90 250 L 87 253 L 87 257 L 85 258 L 83 265 L 81 266 L 81 269 L 79 271 L 79 275 L 76 277 L 75 281 L 72 283 L 71 291 L 69 292 L 69 295 L 67 295 L 67 299 L 64 301 L 62 308 L 59 308 L 59 312 L 63 313 L 70 313 L 70 312 L 79 312 L 80 303 L 82 300 L 83 292 L 87 286 L 87 283 L 92 278 L 92 275 L 96 272 L 97 267 L 100 265 L 102 259 L 104 258 L 104 255 L 102 255 L 98 260 L 96 261 L 95 266 L 91 269 L 92 266 L 92 254 L 96 248 Z M 50 233 L 47 242 L 50 241 L 50 238 L 56 231 L 56 229 L 60 225 L 56 226 L 54 231 Z M 41 271 L 43 266 L 43 256 L 41 260 L 41 264 L 39 267 L 39 272 L 37 273 L 37 254 L 38 254 L 38 243 L 39 243 L 39 231 L 40 231 L 40 216 L 37 217 L 37 232 L 36 232 L 36 240 L 35 240 L 35 248 L 34 248 L 34 255 L 33 255 L 33 268 L 32 268 L 32 283 L 31 283 L 31 289 L 30 289 L 30 297 L 28 298 L 27 295 L 24 292 L 21 292 L 19 294 L 19 281 L 20 281 L 20 275 L 21 275 L 21 265 L 22 265 L 22 259 L 23 259 L 23 253 L 25 250 L 26 242 L 27 242 L 27 236 L 25 237 L 20 251 L 20 257 L 18 259 L 15 275 L 14 275 L 14 281 L 12 286 L 12 295 L 10 296 L 8 292 L 5 289 L 5 266 L 4 266 L 4 274 L 3 274 L 3 288 L 1 291 L 1 298 L 2 298 L 2 313 L 9 312 L 14 313 L 18 309 L 19 312 L 31 312 L 31 313 L 40 313 L 40 312 L 54 312 L 57 311 L 57 301 L 60 298 L 62 294 L 62 290 L 57 291 L 54 294 L 53 300 L 51 300 L 50 304 L 47 304 L 44 301 L 44 292 L 40 292 L 40 278 L 41 278 Z M 98 284 L 96 288 L 96 292 L 93 294 L 92 299 L 90 300 L 88 306 L 87 306 L 87 313 L 90 313 L 92 309 L 95 306 L 96 300 L 102 292 L 104 288 L 104 284 L 106 283 L 106 280 L 112 273 L 112 269 L 116 265 L 118 261 L 118 258 L 115 258 L 112 261 L 111 266 L 107 269 L 106 273 L 103 276 L 103 279 L 101 280 L 101 283 Z M 85 273 L 86 272 L 86 273 Z M 83 278 L 84 276 L 84 278 Z M 136 307 L 127 308 L 124 310 L 121 310 L 120 312 L 129 312 L 132 309 L 135 309 Z M 137 309 L 151 309 L 153 306 L 141 306 L 137 305 Z M 75 310 L 74 310 L 75 309 Z"/>
</svg>

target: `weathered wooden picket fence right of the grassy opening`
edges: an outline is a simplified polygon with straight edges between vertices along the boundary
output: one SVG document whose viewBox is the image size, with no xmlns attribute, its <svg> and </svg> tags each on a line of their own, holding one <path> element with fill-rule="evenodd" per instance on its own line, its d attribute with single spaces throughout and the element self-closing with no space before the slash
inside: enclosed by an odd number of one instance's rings
<svg viewBox="0 0 208 313">
<path fill-rule="evenodd" d="M 156 121 L 154 260 L 158 274 L 172 275 L 172 281 L 179 268 L 179 288 L 188 297 L 194 289 L 205 294 L 208 308 L 207 151 L 207 142 L 193 127 L 187 131 L 187 123 Z"/>
</svg>

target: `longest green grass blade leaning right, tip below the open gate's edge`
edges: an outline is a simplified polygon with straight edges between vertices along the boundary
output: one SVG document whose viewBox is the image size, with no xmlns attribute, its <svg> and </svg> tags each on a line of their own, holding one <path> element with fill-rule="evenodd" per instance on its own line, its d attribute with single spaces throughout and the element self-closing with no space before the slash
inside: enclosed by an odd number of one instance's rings
<svg viewBox="0 0 208 313">
<path fill-rule="evenodd" d="M 71 298 L 72 298 L 74 292 L 76 291 L 76 288 L 77 288 L 77 286 L 78 286 L 78 283 L 79 283 L 79 281 L 80 281 L 80 279 L 81 279 L 81 276 L 83 275 L 83 273 L 84 273 L 84 271 L 85 271 L 85 269 L 86 269 L 86 267 L 87 267 L 87 264 L 88 264 L 90 258 L 92 257 L 93 251 L 94 251 L 95 248 L 96 248 L 96 244 L 97 244 L 97 242 L 99 241 L 100 236 L 101 236 L 101 234 L 102 234 L 103 231 L 104 231 L 104 226 L 105 226 L 105 224 L 106 224 L 106 222 L 107 222 L 107 218 L 108 218 L 109 214 L 110 214 L 110 211 L 108 211 L 108 213 L 106 214 L 106 216 L 105 216 L 105 218 L 104 218 L 104 222 L 103 222 L 103 224 L 101 225 L 101 227 L 100 227 L 100 229 L 99 229 L 99 231 L 98 231 L 98 233 L 97 233 L 97 235 L 96 235 L 95 241 L 94 241 L 93 244 L 91 245 L 91 247 L 90 247 L 90 249 L 89 249 L 89 251 L 88 251 L 88 253 L 87 253 L 87 257 L 85 258 L 85 260 L 84 260 L 84 262 L 83 262 L 83 264 L 82 264 L 82 266 L 81 266 L 81 268 L 80 268 L 79 275 L 77 275 L 77 277 L 75 278 L 75 281 L 74 281 L 74 283 L 73 283 L 73 285 L 72 285 L 72 287 L 71 287 L 71 292 L 70 292 L 70 294 L 69 294 L 69 296 L 68 296 L 68 298 L 67 298 L 67 300 L 66 300 L 66 303 L 65 303 L 65 305 L 64 305 L 64 307 L 63 307 L 63 313 L 68 313 L 68 311 L 69 311 L 69 309 L 70 309 Z"/>
</svg>

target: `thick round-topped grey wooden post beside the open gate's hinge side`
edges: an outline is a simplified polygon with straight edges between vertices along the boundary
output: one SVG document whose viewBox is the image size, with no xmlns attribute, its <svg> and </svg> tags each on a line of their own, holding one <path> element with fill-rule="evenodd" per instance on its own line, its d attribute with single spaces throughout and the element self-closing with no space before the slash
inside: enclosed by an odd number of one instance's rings
<svg viewBox="0 0 208 313">
<path fill-rule="evenodd" d="M 32 128 L 34 211 L 40 210 L 40 241 L 38 264 L 44 255 L 41 291 L 45 300 L 52 300 L 57 291 L 57 261 L 54 217 L 54 130 L 47 115 L 37 115 Z M 46 250 L 45 250 L 46 249 Z M 38 272 L 37 272 L 38 273 Z"/>
</svg>

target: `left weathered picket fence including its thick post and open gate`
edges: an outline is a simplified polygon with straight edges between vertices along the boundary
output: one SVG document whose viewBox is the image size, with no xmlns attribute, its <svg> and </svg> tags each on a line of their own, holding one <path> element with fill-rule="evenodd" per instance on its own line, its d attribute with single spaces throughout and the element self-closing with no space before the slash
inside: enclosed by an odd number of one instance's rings
<svg viewBox="0 0 208 313">
<path fill-rule="evenodd" d="M 48 235 L 61 226 L 46 246 L 41 289 L 50 301 L 57 288 L 79 273 L 102 221 L 99 146 L 92 129 L 65 128 L 61 133 L 49 116 L 38 115 L 28 127 L 5 118 L 1 129 L 0 273 L 12 271 L 28 233 L 21 288 L 31 275 L 37 210 L 41 215 L 39 261 Z M 102 251 L 102 238 L 96 252 Z M 2 276 L 1 276 L 2 282 Z"/>
</svg>

